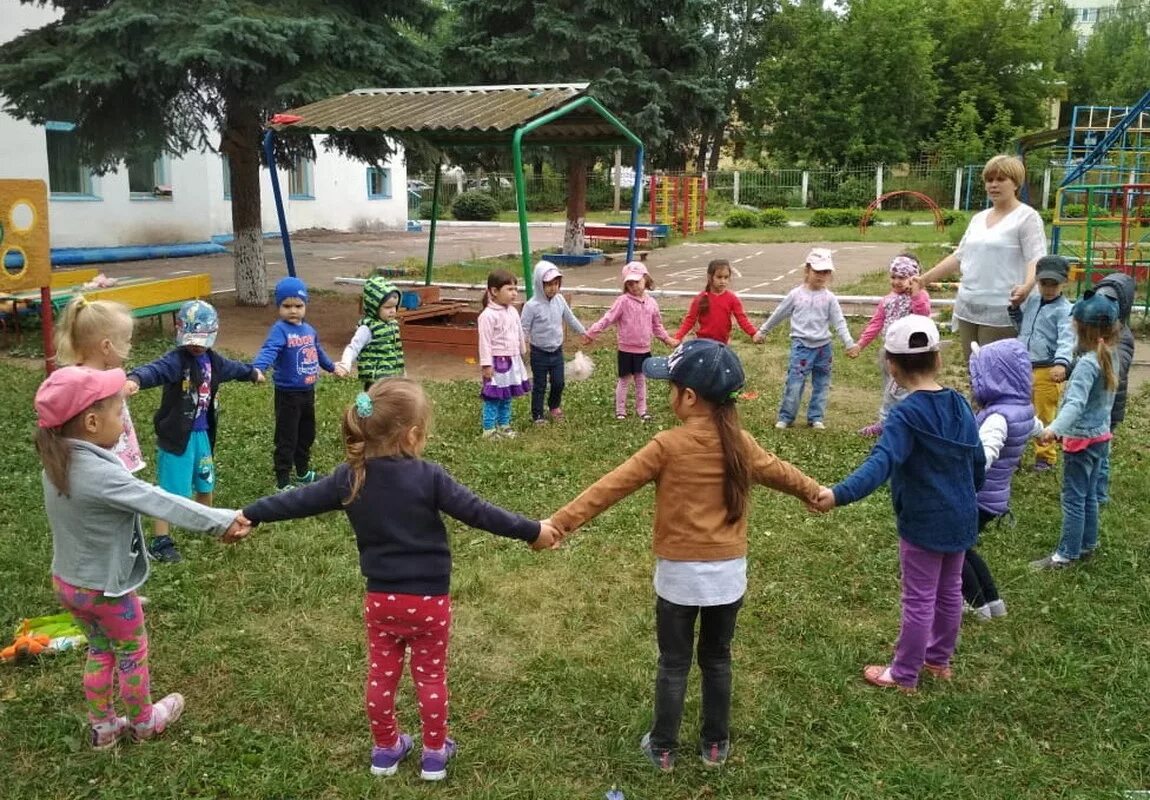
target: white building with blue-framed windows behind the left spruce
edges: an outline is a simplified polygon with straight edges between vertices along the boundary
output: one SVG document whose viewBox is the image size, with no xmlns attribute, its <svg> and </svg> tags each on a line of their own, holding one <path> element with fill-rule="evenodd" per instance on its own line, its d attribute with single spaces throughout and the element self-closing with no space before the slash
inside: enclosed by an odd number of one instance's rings
<svg viewBox="0 0 1150 800">
<path fill-rule="evenodd" d="M 52 22 L 52 8 L 0 0 L 0 41 Z M 164 155 L 92 175 L 76 157 L 68 121 L 37 126 L 0 111 L 0 178 L 41 178 L 51 193 L 53 247 L 207 241 L 231 233 L 227 163 L 217 153 Z M 385 168 L 323 152 L 278 170 L 292 230 L 402 228 L 407 172 L 402 148 Z M 263 230 L 278 230 L 268 170 L 261 170 Z"/>
</svg>

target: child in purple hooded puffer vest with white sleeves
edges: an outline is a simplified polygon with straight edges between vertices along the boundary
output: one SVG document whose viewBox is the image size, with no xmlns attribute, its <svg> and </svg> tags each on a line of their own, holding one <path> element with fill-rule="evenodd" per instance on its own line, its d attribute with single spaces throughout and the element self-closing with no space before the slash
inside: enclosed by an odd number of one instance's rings
<svg viewBox="0 0 1150 800">
<path fill-rule="evenodd" d="M 1026 443 L 1042 432 L 1034 413 L 1030 354 L 1019 339 L 971 346 L 971 390 L 987 477 L 979 490 L 979 533 L 1010 511 L 1011 479 Z M 972 547 L 963 563 L 963 599 L 979 620 L 1006 615 L 1006 603 L 982 556 Z"/>
</svg>

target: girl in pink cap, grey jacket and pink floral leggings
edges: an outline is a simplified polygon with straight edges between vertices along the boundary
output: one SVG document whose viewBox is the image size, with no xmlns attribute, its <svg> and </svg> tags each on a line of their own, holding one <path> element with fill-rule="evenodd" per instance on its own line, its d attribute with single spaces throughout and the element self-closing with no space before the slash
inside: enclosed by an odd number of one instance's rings
<svg viewBox="0 0 1150 800">
<path fill-rule="evenodd" d="M 233 510 L 208 508 L 139 480 L 113 454 L 123 433 L 122 369 L 64 367 L 36 392 L 36 449 L 44 462 L 44 510 L 52 528 L 56 598 L 89 641 L 84 697 L 94 749 L 124 736 L 151 739 L 179 718 L 184 698 L 152 702 L 147 631 L 136 591 L 147 579 L 140 515 L 191 530 L 247 534 Z M 128 716 L 116 716 L 117 675 Z"/>
</svg>

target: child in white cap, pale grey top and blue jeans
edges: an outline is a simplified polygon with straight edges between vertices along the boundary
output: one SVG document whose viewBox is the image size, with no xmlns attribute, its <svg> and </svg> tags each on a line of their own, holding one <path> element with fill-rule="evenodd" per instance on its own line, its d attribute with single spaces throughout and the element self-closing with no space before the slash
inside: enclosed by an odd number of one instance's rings
<svg viewBox="0 0 1150 800">
<path fill-rule="evenodd" d="M 784 429 L 795 424 L 806 377 L 810 375 L 811 402 L 806 420 L 811 428 L 823 430 L 826 424 L 822 417 L 827 409 L 827 395 L 830 393 L 831 329 L 848 349 L 854 347 L 854 339 L 846 328 L 838 299 L 827 289 L 835 271 L 830 251 L 823 247 L 812 249 L 807 253 L 803 270 L 803 283 L 788 292 L 762 323 L 754 334 L 754 344 L 762 341 L 783 320 L 791 321 L 790 363 L 787 367 L 787 385 L 775 428 Z"/>
</svg>

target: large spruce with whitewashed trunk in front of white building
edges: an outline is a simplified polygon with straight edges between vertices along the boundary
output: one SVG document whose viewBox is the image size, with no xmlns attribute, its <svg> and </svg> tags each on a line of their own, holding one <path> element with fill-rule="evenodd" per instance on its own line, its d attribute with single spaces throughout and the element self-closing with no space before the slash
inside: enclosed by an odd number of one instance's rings
<svg viewBox="0 0 1150 800">
<path fill-rule="evenodd" d="M 268 302 L 260 224 L 260 141 L 275 111 L 365 85 L 431 80 L 415 31 L 428 0 L 21 0 L 62 16 L 0 45 L 5 110 L 75 123 L 93 170 L 161 152 L 220 152 L 231 172 L 237 302 Z M 310 153 L 286 137 L 284 156 Z M 368 161 L 382 138 L 325 145 Z"/>
</svg>

